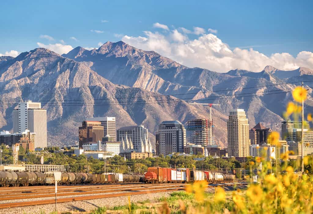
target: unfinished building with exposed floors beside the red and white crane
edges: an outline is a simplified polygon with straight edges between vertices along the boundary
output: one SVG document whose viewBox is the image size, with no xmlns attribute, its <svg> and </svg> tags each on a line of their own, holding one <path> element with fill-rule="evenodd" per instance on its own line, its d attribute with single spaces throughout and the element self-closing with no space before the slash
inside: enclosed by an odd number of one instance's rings
<svg viewBox="0 0 313 214">
<path fill-rule="evenodd" d="M 209 119 L 193 119 L 186 122 L 187 143 L 196 145 L 213 145 L 213 121 Z"/>
</svg>

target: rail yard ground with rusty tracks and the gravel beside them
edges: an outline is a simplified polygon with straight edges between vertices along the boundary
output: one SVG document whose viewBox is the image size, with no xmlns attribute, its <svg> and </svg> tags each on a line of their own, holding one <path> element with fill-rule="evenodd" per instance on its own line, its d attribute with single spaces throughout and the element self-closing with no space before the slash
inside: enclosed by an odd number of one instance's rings
<svg viewBox="0 0 313 214">
<path fill-rule="evenodd" d="M 115 183 L 98 185 L 73 185 L 59 186 L 57 193 L 57 210 L 90 211 L 98 207 L 121 206 L 131 202 L 149 200 L 168 196 L 174 191 L 183 191 L 185 183 Z M 232 190 L 233 186 L 245 188 L 246 182 L 233 181 L 229 183 L 209 184 L 208 191 L 214 192 L 214 187 L 220 186 L 225 190 Z M 12 213 L 49 213 L 55 209 L 54 186 L 29 186 L 29 187 L 1 187 L 0 212 Z"/>
</svg>

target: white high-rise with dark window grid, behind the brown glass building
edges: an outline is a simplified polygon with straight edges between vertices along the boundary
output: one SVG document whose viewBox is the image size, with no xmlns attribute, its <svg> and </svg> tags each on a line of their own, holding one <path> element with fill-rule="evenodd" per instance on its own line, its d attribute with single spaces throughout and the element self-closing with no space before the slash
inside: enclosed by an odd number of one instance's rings
<svg viewBox="0 0 313 214">
<path fill-rule="evenodd" d="M 116 123 L 115 117 L 90 117 L 87 121 L 99 121 L 103 126 L 104 136 L 109 135 L 111 141 L 116 141 Z"/>
</svg>

